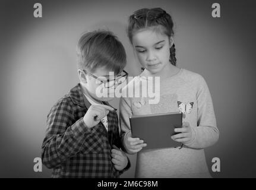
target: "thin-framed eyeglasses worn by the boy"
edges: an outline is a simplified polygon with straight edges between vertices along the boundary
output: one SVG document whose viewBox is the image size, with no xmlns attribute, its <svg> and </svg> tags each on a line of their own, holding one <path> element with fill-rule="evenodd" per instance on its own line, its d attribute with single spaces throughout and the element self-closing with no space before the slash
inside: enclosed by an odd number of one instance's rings
<svg viewBox="0 0 256 190">
<path fill-rule="evenodd" d="M 115 85 L 115 84 L 120 85 L 120 84 L 124 83 L 124 81 L 126 81 L 127 77 L 128 77 L 128 72 L 126 72 L 125 70 L 123 70 L 121 72 L 121 74 L 119 74 L 115 78 L 113 78 L 113 80 L 109 80 L 109 78 L 107 78 L 106 80 L 102 80 L 102 78 L 95 76 L 94 74 L 92 74 L 89 71 L 86 71 L 86 70 L 83 70 L 83 71 L 84 71 L 84 73 L 91 75 L 91 77 L 93 77 L 93 78 L 99 80 L 101 83 L 103 83 L 105 88 L 113 87 L 113 85 Z"/>
</svg>

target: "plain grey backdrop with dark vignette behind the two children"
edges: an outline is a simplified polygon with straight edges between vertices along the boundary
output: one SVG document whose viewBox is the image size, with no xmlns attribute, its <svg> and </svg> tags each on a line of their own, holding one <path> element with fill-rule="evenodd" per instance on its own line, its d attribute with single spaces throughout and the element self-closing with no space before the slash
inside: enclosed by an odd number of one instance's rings
<svg viewBox="0 0 256 190">
<path fill-rule="evenodd" d="M 43 18 L 34 18 L 40 2 Z M 219 2 L 221 18 L 211 17 Z M 206 148 L 219 157 L 215 178 L 256 177 L 255 1 L 1 1 L 0 2 L 0 177 L 49 178 L 34 172 L 40 157 L 46 115 L 78 83 L 75 46 L 85 30 L 112 30 L 124 44 L 130 76 L 140 71 L 125 27 L 140 8 L 161 7 L 175 22 L 178 66 L 206 79 L 220 138 Z M 111 102 L 118 107 L 119 100 Z M 134 178 L 132 168 L 121 177 Z"/>
</svg>

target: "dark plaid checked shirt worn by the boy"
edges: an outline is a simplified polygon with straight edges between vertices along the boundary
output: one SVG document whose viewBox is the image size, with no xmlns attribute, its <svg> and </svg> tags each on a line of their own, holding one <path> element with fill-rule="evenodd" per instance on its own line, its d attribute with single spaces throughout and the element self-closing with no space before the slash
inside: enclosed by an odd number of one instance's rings
<svg viewBox="0 0 256 190">
<path fill-rule="evenodd" d="M 50 110 L 42 162 L 53 169 L 53 178 L 119 178 L 130 167 L 128 162 L 124 170 L 118 171 L 111 162 L 112 145 L 121 147 L 115 110 L 108 113 L 106 131 L 102 122 L 90 129 L 86 127 L 83 116 L 89 107 L 78 84 Z"/>
</svg>

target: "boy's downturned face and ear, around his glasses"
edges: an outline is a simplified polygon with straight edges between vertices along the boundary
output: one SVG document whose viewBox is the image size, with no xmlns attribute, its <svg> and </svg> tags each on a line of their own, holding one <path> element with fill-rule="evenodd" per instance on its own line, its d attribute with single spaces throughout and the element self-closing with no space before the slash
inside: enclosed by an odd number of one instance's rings
<svg viewBox="0 0 256 190">
<path fill-rule="evenodd" d="M 99 101 L 108 102 L 114 98 L 114 87 L 106 88 L 100 81 L 106 81 L 109 78 L 109 71 L 105 67 L 97 68 L 94 72 L 84 73 L 78 70 L 81 85 L 86 88 L 87 92 L 94 99 Z M 94 75 L 94 77 L 92 75 Z M 98 78 L 98 79 L 96 79 Z M 112 76 L 113 78 L 113 76 Z M 104 96 L 102 96 L 104 94 Z"/>
</svg>

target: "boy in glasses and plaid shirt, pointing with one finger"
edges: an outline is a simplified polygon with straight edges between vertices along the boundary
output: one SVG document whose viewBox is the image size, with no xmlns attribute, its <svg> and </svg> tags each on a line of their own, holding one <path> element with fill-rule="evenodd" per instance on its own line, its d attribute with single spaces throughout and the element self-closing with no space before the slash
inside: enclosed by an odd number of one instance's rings
<svg viewBox="0 0 256 190">
<path fill-rule="evenodd" d="M 81 36 L 77 51 L 80 83 L 48 114 L 42 162 L 53 178 L 119 178 L 130 166 L 119 149 L 116 109 L 106 102 L 113 96 L 96 92 L 127 78 L 124 46 L 109 31 L 91 31 Z M 117 74 L 112 79 L 110 71 Z"/>
</svg>

